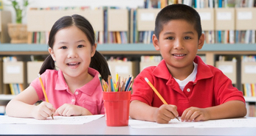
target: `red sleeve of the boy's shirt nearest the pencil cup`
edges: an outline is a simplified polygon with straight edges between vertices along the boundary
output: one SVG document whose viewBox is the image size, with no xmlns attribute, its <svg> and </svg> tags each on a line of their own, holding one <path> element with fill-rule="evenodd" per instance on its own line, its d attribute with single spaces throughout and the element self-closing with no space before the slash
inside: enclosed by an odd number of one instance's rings
<svg viewBox="0 0 256 136">
<path fill-rule="evenodd" d="M 145 68 L 136 78 L 134 79 L 133 93 L 131 94 L 131 101 L 139 100 L 152 106 L 153 101 L 153 90 L 145 81 L 145 77 L 153 83 L 153 75 L 151 68 Z"/>
</svg>

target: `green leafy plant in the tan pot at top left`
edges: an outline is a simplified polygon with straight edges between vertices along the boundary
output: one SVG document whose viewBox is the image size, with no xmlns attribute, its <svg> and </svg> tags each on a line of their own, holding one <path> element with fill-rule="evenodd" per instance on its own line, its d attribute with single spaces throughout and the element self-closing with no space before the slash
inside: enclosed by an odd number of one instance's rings
<svg viewBox="0 0 256 136">
<path fill-rule="evenodd" d="M 22 23 L 22 17 L 24 15 L 23 12 L 26 12 L 26 8 L 29 4 L 29 0 L 22 0 L 22 4 L 19 4 L 16 0 L 9 0 L 12 2 L 12 6 L 15 10 L 16 14 L 16 23 L 21 24 Z"/>
</svg>

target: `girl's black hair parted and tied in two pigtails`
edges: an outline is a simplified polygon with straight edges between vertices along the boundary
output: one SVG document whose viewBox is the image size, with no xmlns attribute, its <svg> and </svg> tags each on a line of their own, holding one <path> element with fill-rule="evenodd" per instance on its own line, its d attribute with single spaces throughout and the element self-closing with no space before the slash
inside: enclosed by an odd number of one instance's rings
<svg viewBox="0 0 256 136">
<path fill-rule="evenodd" d="M 87 21 L 86 18 L 84 18 L 81 15 L 71 15 L 71 16 L 63 16 L 62 18 L 58 19 L 58 21 L 53 24 L 52 29 L 49 33 L 49 41 L 48 45 L 50 48 L 53 49 L 53 45 L 55 43 L 55 35 L 60 29 L 64 29 L 69 26 L 77 26 L 78 29 L 83 31 L 89 42 L 91 43 L 91 46 L 94 46 L 95 44 L 95 35 L 94 35 L 94 29 L 92 28 L 89 21 Z M 99 71 L 102 78 L 105 79 L 105 81 L 108 81 L 108 75 L 111 75 L 108 63 L 105 60 L 105 57 L 103 57 L 100 52 L 95 51 L 95 54 L 93 57 L 91 57 L 91 63 L 89 67 L 94 68 L 95 70 Z M 39 74 L 43 74 L 46 69 L 55 69 L 55 62 L 52 59 L 51 55 L 49 54 L 48 57 L 44 60 L 43 65 L 41 66 L 41 69 L 39 71 Z"/>
</svg>

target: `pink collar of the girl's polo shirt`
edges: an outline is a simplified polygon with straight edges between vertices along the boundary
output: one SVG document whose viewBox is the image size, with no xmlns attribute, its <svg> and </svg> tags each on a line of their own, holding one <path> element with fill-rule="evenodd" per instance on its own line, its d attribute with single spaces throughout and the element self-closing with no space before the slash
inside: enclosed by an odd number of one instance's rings
<svg viewBox="0 0 256 136">
<path fill-rule="evenodd" d="M 91 96 L 94 93 L 94 90 L 96 90 L 97 86 L 100 83 L 97 77 L 97 74 L 99 74 L 99 72 L 94 70 L 93 68 L 88 68 L 88 73 L 94 78 L 91 79 L 91 81 L 88 82 L 86 85 L 83 85 L 83 87 L 78 88 L 78 90 Z M 63 72 L 60 70 L 58 70 L 58 79 L 56 82 L 55 90 L 68 90 L 68 85 L 66 85 Z"/>
</svg>

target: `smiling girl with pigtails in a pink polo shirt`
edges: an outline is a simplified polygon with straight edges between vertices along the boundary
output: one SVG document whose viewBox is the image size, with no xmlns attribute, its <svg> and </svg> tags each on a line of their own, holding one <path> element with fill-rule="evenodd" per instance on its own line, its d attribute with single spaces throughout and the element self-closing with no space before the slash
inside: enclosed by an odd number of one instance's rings
<svg viewBox="0 0 256 136">
<path fill-rule="evenodd" d="M 46 119 L 50 115 L 104 114 L 98 74 L 107 81 L 110 71 L 94 42 L 94 29 L 83 16 L 64 16 L 56 21 L 49 34 L 49 56 L 39 72 L 49 103 L 35 106 L 36 101 L 45 99 L 40 81 L 35 79 L 7 104 L 7 115 Z"/>
</svg>

